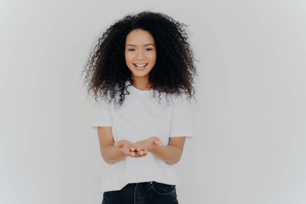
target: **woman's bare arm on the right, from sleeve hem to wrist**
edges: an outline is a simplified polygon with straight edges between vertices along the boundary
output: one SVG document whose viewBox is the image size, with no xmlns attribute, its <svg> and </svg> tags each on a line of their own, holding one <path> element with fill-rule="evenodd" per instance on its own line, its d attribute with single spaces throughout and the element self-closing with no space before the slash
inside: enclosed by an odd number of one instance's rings
<svg viewBox="0 0 306 204">
<path fill-rule="evenodd" d="M 184 143 L 185 136 L 169 137 L 168 145 L 155 145 L 150 152 L 166 163 L 173 165 L 179 161 Z"/>
</svg>

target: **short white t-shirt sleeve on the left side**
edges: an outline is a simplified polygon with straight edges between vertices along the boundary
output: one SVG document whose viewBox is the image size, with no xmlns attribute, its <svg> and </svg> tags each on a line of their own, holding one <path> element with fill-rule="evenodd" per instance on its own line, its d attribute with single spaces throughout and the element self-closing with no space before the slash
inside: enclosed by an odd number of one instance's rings
<svg viewBox="0 0 306 204">
<path fill-rule="evenodd" d="M 110 104 L 102 98 L 94 106 L 92 128 L 97 129 L 97 126 L 112 126 Z"/>
</svg>

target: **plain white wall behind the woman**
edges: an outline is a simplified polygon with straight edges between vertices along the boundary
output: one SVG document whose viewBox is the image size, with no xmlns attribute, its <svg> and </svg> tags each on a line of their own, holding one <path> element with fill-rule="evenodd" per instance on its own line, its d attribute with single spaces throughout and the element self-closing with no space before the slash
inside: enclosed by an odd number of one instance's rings
<svg viewBox="0 0 306 204">
<path fill-rule="evenodd" d="M 100 33 L 144 9 L 188 24 L 199 60 L 179 203 L 305 203 L 305 1 L 120 4 L 0 1 L 0 203 L 100 203 L 106 163 L 79 75 Z"/>
</svg>

